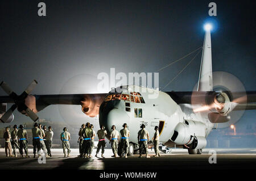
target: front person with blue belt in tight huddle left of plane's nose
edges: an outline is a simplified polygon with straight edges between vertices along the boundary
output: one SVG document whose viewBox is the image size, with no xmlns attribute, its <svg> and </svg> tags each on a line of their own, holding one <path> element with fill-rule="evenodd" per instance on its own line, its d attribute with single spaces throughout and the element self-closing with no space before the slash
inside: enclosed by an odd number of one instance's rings
<svg viewBox="0 0 256 181">
<path fill-rule="evenodd" d="M 90 123 L 86 123 L 85 127 L 86 128 L 82 130 L 82 137 L 84 138 L 84 141 L 82 142 L 82 153 L 80 157 L 90 158 L 93 130 L 90 128 Z"/>
</svg>

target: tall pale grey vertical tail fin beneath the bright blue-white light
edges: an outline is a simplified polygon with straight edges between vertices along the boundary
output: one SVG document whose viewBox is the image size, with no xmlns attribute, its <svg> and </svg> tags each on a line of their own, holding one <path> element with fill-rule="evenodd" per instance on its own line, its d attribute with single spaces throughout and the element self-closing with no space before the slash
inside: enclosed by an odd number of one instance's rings
<svg viewBox="0 0 256 181">
<path fill-rule="evenodd" d="M 201 58 L 201 67 L 197 91 L 212 91 L 212 45 L 210 41 L 210 30 L 205 31 L 204 46 Z"/>
</svg>

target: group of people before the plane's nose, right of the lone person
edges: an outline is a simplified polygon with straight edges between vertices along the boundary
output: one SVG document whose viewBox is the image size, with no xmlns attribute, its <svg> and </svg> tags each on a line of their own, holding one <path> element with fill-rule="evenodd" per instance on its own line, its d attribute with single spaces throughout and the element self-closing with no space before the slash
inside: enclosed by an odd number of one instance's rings
<svg viewBox="0 0 256 181">
<path fill-rule="evenodd" d="M 142 153 L 146 154 L 146 158 L 150 158 L 148 155 L 148 141 L 149 134 L 148 131 L 145 129 L 145 125 L 141 125 L 141 130 L 138 132 L 138 143 L 139 143 L 139 158 L 142 157 Z M 98 157 L 98 153 L 101 149 L 101 157 L 104 158 L 104 151 L 106 146 L 105 136 L 107 134 L 104 126 L 100 126 L 100 130 L 97 131 L 98 136 L 98 145 L 96 150 L 95 157 Z M 129 137 L 130 131 L 127 129 L 127 124 L 123 124 L 123 129 L 120 131 L 121 137 L 119 136 L 119 132 L 115 129 L 115 125 L 112 126 L 112 131 L 110 133 L 110 141 L 113 155 L 112 157 L 118 157 L 118 146 L 121 146 L 121 155 L 120 158 L 124 157 L 127 158 L 128 148 L 129 148 Z M 93 130 L 93 125 L 90 123 L 82 124 L 80 131 L 79 131 L 79 152 L 80 158 L 92 158 L 92 150 L 94 148 L 94 137 L 96 137 L 96 132 Z M 158 127 L 155 127 L 155 134 L 152 137 L 154 142 L 154 149 L 155 155 L 154 157 L 160 157 L 159 153 L 159 131 Z M 124 155 L 123 155 L 124 154 Z"/>
</svg>

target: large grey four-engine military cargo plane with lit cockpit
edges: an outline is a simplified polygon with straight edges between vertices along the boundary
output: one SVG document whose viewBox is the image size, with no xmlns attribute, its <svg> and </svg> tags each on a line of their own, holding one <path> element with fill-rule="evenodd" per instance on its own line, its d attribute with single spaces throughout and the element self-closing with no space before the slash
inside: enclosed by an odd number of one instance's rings
<svg viewBox="0 0 256 181">
<path fill-rule="evenodd" d="M 146 125 L 150 135 L 154 134 L 154 127 L 159 126 L 160 142 L 179 145 L 188 149 L 189 154 L 201 154 L 207 145 L 206 138 L 216 124 L 234 121 L 236 114 L 233 116 L 233 112 L 256 108 L 256 91 L 232 90 L 226 82 L 214 85 L 211 28 L 210 24 L 205 25 L 199 82 L 195 91 L 163 92 L 142 86 L 123 85 L 108 94 L 30 95 L 37 85 L 33 81 L 21 95 L 16 95 L 2 82 L 2 89 L 9 96 L 0 96 L 0 120 L 2 123 L 10 123 L 16 108 L 36 121 L 36 113 L 52 104 L 81 105 L 86 115 L 99 115 L 99 122 L 105 126 L 108 134 L 112 125 L 120 130 L 123 123 L 127 123 L 131 132 L 130 155 L 138 149 L 137 132 L 141 124 Z M 222 75 L 217 73 L 215 77 L 222 80 Z M 225 76 L 229 83 L 235 84 L 234 87 L 242 87 L 232 82 L 232 76 Z M 154 93 L 158 95 L 157 98 L 150 98 L 149 95 Z M 6 111 L 6 103 L 14 104 Z"/>
</svg>

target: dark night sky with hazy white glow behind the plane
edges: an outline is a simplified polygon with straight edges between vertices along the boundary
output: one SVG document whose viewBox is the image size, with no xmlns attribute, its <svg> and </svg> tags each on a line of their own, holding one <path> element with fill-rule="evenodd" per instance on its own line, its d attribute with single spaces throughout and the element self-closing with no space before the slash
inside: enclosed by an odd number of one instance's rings
<svg viewBox="0 0 256 181">
<path fill-rule="evenodd" d="M 45 17 L 38 16 L 39 2 L 46 3 Z M 209 2 L 1 1 L 1 81 L 18 94 L 32 79 L 39 82 L 32 94 L 71 94 L 96 90 L 87 75 L 97 77 L 110 68 L 127 74 L 155 72 L 203 45 L 203 24 L 212 18 Z M 256 90 L 256 3 L 213 2 L 217 4 L 217 16 L 212 18 L 217 22 L 212 32 L 213 71 L 231 73 L 246 90 Z M 159 87 L 192 57 L 160 71 Z M 192 91 L 200 61 L 201 53 L 163 91 Z M 67 86 L 83 77 L 86 85 Z M 5 92 L 0 90 L 0 95 Z M 63 121 L 59 108 L 50 106 L 38 115 Z M 71 109 L 80 111 L 77 106 Z M 30 121 L 18 111 L 14 116 L 14 124 Z M 255 111 L 246 111 L 237 124 L 241 128 L 253 124 L 255 131 L 254 119 Z"/>
</svg>

